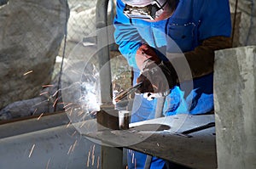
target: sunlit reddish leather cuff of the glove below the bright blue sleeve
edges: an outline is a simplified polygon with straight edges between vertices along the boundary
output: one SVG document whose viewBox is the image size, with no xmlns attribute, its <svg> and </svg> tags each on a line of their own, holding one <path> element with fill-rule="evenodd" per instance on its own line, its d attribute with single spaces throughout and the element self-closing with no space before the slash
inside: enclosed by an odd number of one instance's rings
<svg viewBox="0 0 256 169">
<path fill-rule="evenodd" d="M 136 53 L 136 63 L 139 70 L 143 70 L 146 62 L 159 65 L 161 60 L 157 54 L 155 54 L 154 48 L 151 48 L 148 44 L 143 44 L 140 48 L 137 49 Z"/>
</svg>

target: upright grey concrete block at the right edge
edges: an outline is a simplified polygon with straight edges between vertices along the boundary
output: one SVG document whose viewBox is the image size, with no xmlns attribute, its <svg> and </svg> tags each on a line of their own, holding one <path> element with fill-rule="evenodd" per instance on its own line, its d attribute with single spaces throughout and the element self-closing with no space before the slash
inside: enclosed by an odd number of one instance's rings
<svg viewBox="0 0 256 169">
<path fill-rule="evenodd" d="M 256 46 L 215 53 L 218 169 L 256 168 Z"/>
</svg>

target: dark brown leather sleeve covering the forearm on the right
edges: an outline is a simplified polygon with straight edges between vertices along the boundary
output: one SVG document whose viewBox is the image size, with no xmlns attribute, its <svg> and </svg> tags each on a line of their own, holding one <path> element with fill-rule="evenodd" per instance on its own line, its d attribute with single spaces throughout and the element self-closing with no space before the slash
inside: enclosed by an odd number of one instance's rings
<svg viewBox="0 0 256 169">
<path fill-rule="evenodd" d="M 191 75 L 195 79 L 212 73 L 214 51 L 230 47 L 230 37 L 209 37 L 195 50 L 183 54 L 167 54 L 167 58 L 176 71 L 177 82 L 186 82 L 191 80 Z"/>
</svg>

